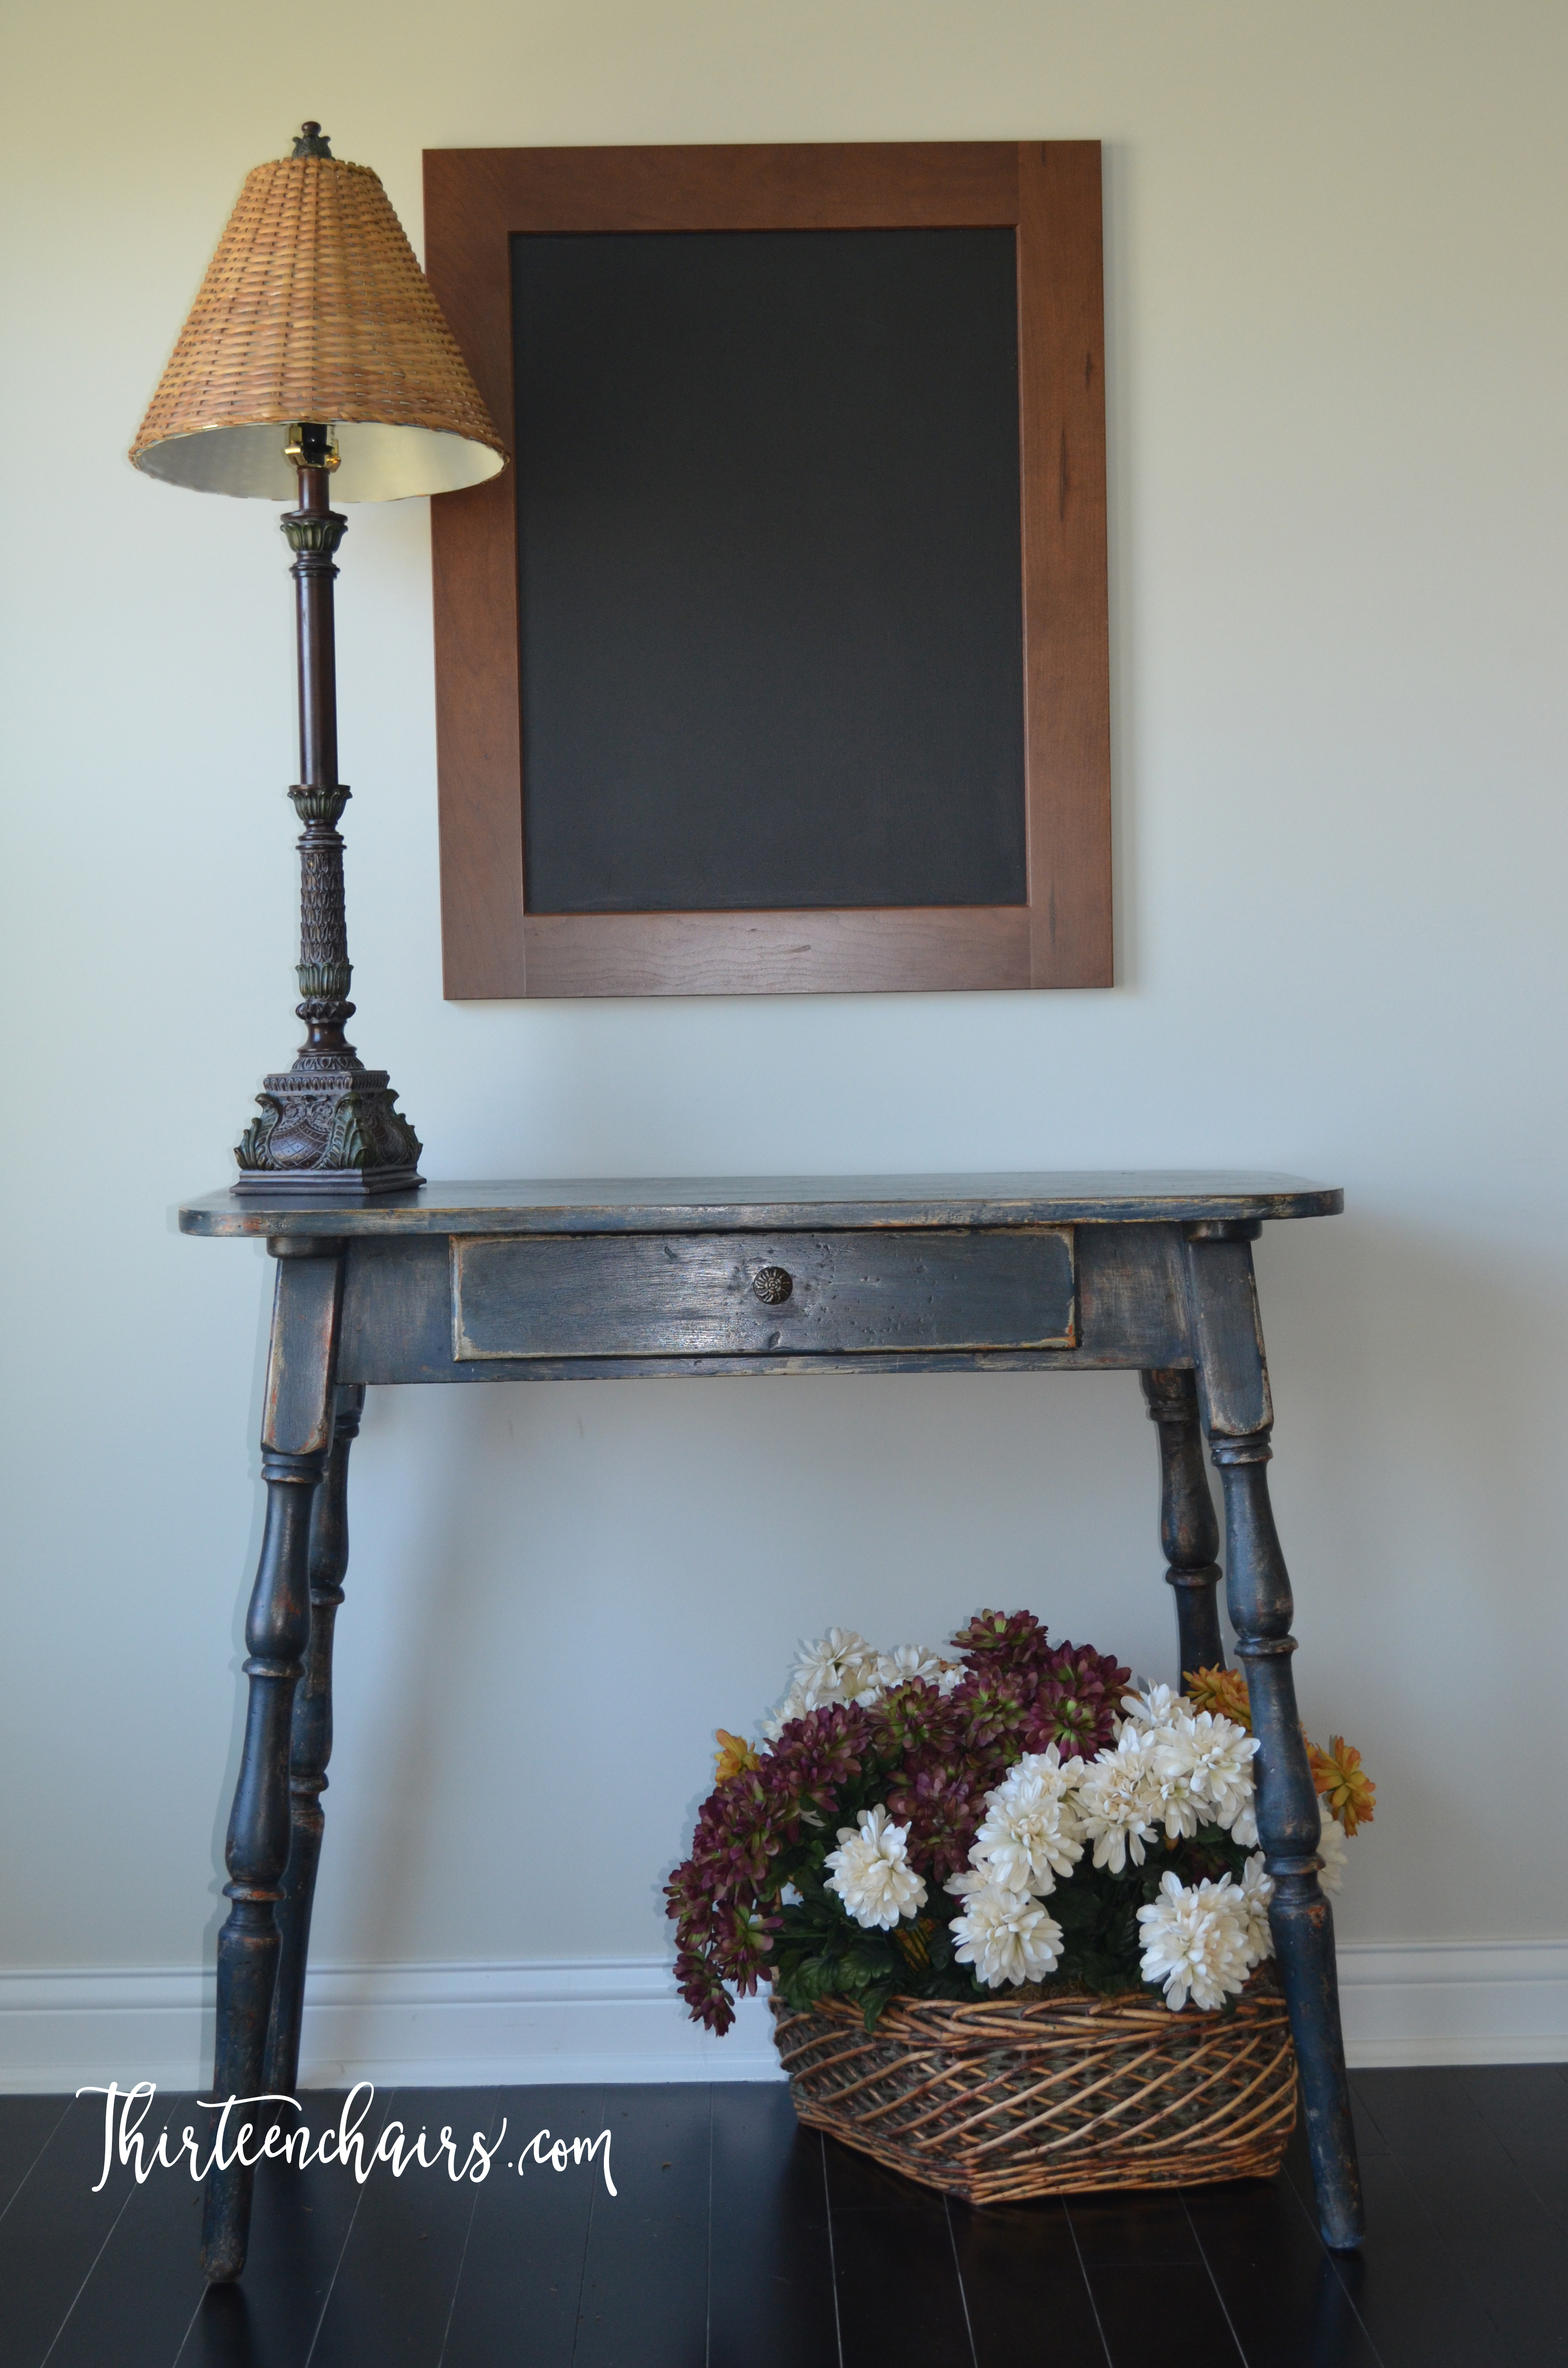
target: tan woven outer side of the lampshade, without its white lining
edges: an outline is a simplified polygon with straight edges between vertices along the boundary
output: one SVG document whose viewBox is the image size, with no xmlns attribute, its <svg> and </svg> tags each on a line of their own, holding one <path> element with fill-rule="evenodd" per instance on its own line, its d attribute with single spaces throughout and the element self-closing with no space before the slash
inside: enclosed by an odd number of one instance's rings
<svg viewBox="0 0 1568 2368">
<path fill-rule="evenodd" d="M 237 422 L 374 419 L 505 452 L 379 178 L 336 156 L 246 175 L 130 457 Z"/>
</svg>

